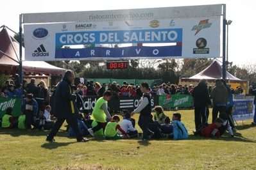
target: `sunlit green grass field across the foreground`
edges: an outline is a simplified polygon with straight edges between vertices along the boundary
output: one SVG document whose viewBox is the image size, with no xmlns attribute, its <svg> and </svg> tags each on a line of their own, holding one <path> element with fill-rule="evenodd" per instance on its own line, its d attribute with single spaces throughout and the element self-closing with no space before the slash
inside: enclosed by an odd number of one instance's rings
<svg viewBox="0 0 256 170">
<path fill-rule="evenodd" d="M 167 116 L 173 112 L 165 111 Z M 192 135 L 193 110 L 176 112 L 182 114 L 189 131 L 187 140 L 107 141 L 88 136 L 88 143 L 76 143 L 65 133 L 64 125 L 55 137 L 57 142 L 47 143 L 49 131 L 0 128 L 0 169 L 256 169 L 256 126 L 251 125 L 252 120 L 237 121 L 233 138 L 226 132 L 221 139 L 207 140 Z M 138 117 L 133 116 L 136 121 Z M 136 128 L 141 132 L 138 125 Z"/>
</svg>

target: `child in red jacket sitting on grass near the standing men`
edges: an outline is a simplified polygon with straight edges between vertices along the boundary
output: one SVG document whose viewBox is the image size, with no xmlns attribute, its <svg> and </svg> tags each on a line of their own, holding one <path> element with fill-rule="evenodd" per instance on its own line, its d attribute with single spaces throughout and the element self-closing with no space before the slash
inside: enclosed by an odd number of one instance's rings
<svg viewBox="0 0 256 170">
<path fill-rule="evenodd" d="M 200 127 L 199 130 L 194 132 L 194 135 L 202 135 L 204 137 L 207 137 L 207 139 L 216 136 L 219 139 L 221 137 L 221 135 L 219 135 L 219 127 L 221 127 L 222 124 L 223 120 L 221 118 L 216 118 L 216 120 L 212 124 L 208 126 L 203 125 L 202 127 Z"/>
</svg>

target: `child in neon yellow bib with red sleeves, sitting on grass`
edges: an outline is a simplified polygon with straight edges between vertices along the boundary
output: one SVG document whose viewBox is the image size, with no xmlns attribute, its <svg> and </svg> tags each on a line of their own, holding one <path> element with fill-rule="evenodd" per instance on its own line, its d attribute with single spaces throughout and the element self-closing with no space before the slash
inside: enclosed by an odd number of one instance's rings
<svg viewBox="0 0 256 170">
<path fill-rule="evenodd" d="M 130 136 L 120 127 L 118 122 L 120 121 L 119 116 L 113 116 L 113 120 L 108 121 L 108 124 L 105 128 L 106 139 L 126 139 Z M 123 135 L 117 134 L 118 130 L 122 132 Z"/>
</svg>

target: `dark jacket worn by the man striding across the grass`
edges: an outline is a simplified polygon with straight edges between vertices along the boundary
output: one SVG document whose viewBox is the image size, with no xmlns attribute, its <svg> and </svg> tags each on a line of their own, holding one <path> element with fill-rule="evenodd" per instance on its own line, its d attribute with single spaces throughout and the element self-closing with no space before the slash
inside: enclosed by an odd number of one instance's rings
<svg viewBox="0 0 256 170">
<path fill-rule="evenodd" d="M 56 118 L 78 118 L 76 107 L 76 95 L 73 95 L 69 79 L 63 77 L 55 91 L 55 110 L 53 116 Z"/>
</svg>

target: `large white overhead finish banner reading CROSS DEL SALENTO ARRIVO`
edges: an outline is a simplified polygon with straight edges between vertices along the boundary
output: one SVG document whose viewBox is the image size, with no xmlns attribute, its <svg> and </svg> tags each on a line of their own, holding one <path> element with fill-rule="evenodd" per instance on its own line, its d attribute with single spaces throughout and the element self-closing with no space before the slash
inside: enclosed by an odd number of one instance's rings
<svg viewBox="0 0 256 170">
<path fill-rule="evenodd" d="M 219 58 L 222 6 L 22 14 L 25 60 Z"/>
</svg>

